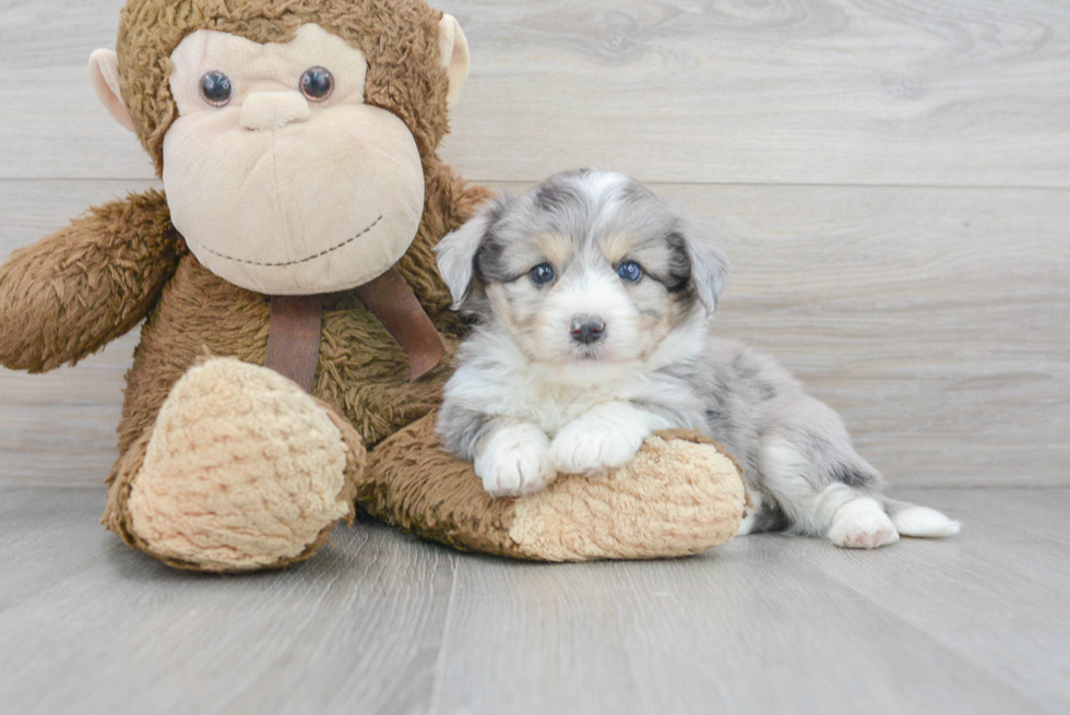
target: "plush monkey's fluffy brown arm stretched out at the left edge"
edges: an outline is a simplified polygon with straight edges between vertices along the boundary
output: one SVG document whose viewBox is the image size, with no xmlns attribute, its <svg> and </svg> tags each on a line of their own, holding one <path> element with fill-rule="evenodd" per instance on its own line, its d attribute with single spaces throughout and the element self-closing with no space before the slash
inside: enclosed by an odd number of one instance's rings
<svg viewBox="0 0 1070 715">
<path fill-rule="evenodd" d="M 138 324 L 185 253 L 158 191 L 92 208 L 0 266 L 0 365 L 44 372 Z"/>
</svg>

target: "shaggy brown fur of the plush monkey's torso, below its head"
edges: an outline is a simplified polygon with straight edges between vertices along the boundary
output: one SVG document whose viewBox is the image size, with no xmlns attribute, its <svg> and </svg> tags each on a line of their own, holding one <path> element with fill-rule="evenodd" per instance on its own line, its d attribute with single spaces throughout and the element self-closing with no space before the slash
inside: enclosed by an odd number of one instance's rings
<svg viewBox="0 0 1070 715">
<path fill-rule="evenodd" d="M 442 233 L 461 225 L 485 198 L 485 190 L 465 190 L 448 167 L 439 166 L 428 187 L 419 234 L 399 264 L 451 355 L 461 325 L 448 308 L 449 291 L 430 267 L 430 248 Z M 129 528 L 124 500 L 144 458 L 144 443 L 156 414 L 171 388 L 205 354 L 263 365 L 269 315 L 269 297 L 226 283 L 192 254 L 179 261 L 142 329 L 134 366 L 127 376 L 119 426 L 123 456 L 108 477 L 105 524 L 131 546 L 150 550 Z M 441 401 L 448 361 L 415 383 L 408 381 L 406 364 L 402 348 L 353 294 L 328 298 L 313 395 L 323 401 L 332 416 L 341 416 L 353 426 L 344 431 L 355 450 L 362 450 L 365 444 L 373 446 L 430 413 Z M 304 556 L 312 553 L 314 549 Z"/>
</svg>

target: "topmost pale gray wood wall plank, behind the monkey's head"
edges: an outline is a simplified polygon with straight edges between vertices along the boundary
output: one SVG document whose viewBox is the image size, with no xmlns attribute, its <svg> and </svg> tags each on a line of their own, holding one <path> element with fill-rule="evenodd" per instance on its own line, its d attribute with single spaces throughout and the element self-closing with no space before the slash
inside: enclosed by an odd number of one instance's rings
<svg viewBox="0 0 1070 715">
<path fill-rule="evenodd" d="M 85 79 L 121 4 L 0 8 L 0 177 L 152 177 Z M 473 52 L 444 156 L 479 180 L 591 164 L 649 181 L 1070 187 L 1061 0 L 437 5 Z"/>
</svg>

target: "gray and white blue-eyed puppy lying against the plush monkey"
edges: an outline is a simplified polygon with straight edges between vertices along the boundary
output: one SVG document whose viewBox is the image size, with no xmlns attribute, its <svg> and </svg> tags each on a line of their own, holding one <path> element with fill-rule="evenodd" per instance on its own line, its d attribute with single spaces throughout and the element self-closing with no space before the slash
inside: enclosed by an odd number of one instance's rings
<svg viewBox="0 0 1070 715">
<path fill-rule="evenodd" d="M 773 359 L 713 334 L 725 257 L 650 191 L 581 169 L 499 198 L 436 249 L 475 320 L 438 429 L 495 496 L 627 463 L 652 432 L 700 430 L 744 466 L 741 534 L 876 548 L 959 524 L 883 496 L 840 417 Z"/>
</svg>

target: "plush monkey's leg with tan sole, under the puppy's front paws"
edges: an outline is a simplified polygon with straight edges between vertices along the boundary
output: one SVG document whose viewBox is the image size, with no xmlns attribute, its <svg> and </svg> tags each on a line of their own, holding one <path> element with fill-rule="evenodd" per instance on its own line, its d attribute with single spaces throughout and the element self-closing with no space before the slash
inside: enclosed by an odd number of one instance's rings
<svg viewBox="0 0 1070 715">
<path fill-rule="evenodd" d="M 739 468 L 691 432 L 650 438 L 631 463 L 491 499 L 471 464 L 442 451 L 432 413 L 377 446 L 357 503 L 424 537 L 538 561 L 697 553 L 735 536 L 747 510 Z"/>
</svg>

